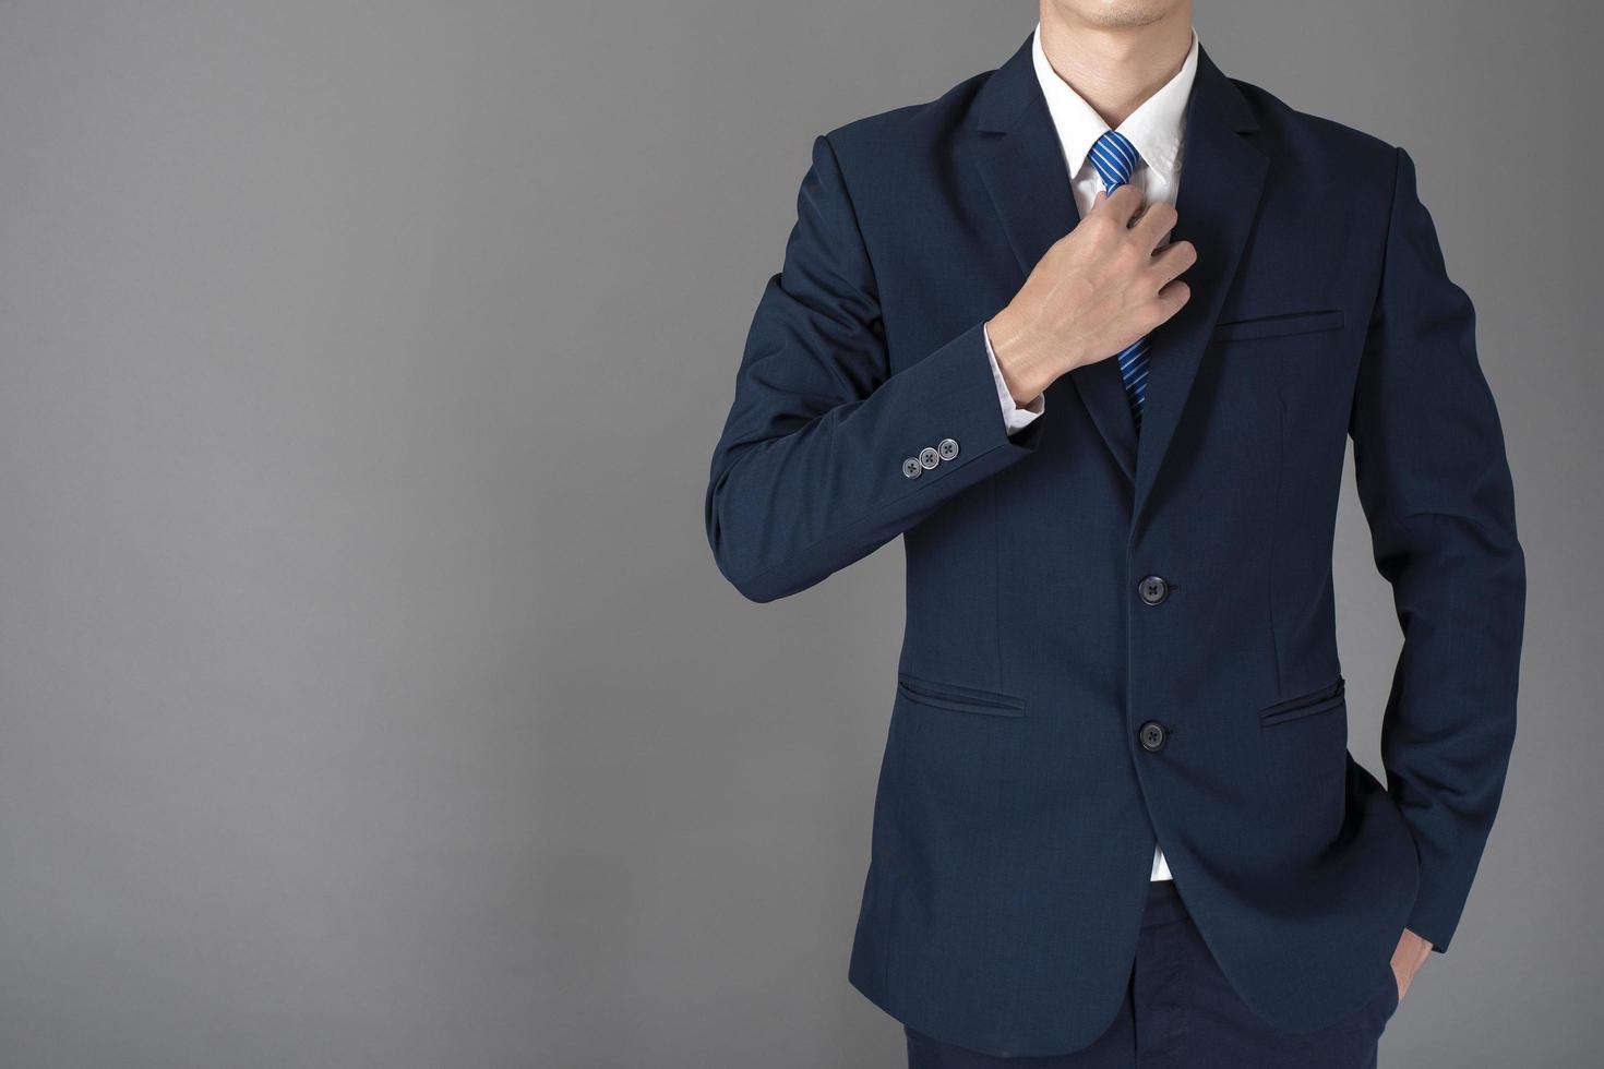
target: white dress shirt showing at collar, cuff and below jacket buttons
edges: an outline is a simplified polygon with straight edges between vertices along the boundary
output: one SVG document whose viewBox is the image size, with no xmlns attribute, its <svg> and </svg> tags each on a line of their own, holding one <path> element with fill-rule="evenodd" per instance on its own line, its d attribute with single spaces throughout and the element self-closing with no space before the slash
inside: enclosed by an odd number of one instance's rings
<svg viewBox="0 0 1604 1069">
<path fill-rule="evenodd" d="M 1036 26 L 1030 50 L 1036 61 L 1036 80 L 1047 98 L 1047 111 L 1052 112 L 1052 125 L 1057 128 L 1059 144 L 1063 147 L 1067 173 L 1073 176 L 1070 191 L 1075 196 L 1081 218 L 1086 218 L 1092 210 L 1097 192 L 1104 188 L 1102 178 L 1097 175 L 1097 168 L 1092 167 L 1088 154 L 1097 138 L 1107 133 L 1108 123 L 1047 63 L 1047 53 L 1041 48 L 1041 24 Z M 1120 133 L 1131 139 L 1131 144 L 1136 146 L 1136 151 L 1142 157 L 1137 160 L 1136 170 L 1131 171 L 1131 184 L 1142 189 L 1148 204 L 1155 200 L 1176 202 L 1176 192 L 1181 184 L 1181 143 L 1185 135 L 1187 98 L 1192 95 L 1192 79 L 1197 69 L 1198 32 L 1193 26 L 1192 48 L 1187 51 L 1187 59 L 1181 64 L 1181 71 L 1176 72 L 1176 77 L 1165 82 L 1156 93 L 1142 101 L 1140 107 L 1131 112 L 1118 127 Z M 1163 244 L 1168 244 L 1168 239 Z M 982 329 L 982 333 L 985 335 L 985 329 Z M 1113 354 L 1110 353 L 1108 356 Z M 986 335 L 986 357 L 991 361 L 991 375 L 998 383 L 1003 420 L 1007 433 L 1012 434 L 1028 426 L 1043 413 L 1046 399 L 1038 394 L 1027 405 L 1014 402 L 1014 396 L 1003 381 L 1003 372 L 998 369 L 996 354 L 991 351 L 990 335 Z M 1169 865 L 1165 862 L 1165 851 L 1158 848 L 1153 849 L 1152 878 L 1171 878 Z"/>
</svg>

